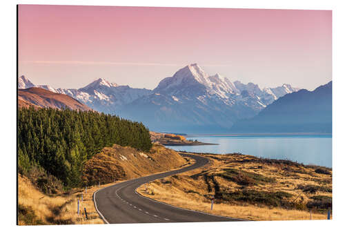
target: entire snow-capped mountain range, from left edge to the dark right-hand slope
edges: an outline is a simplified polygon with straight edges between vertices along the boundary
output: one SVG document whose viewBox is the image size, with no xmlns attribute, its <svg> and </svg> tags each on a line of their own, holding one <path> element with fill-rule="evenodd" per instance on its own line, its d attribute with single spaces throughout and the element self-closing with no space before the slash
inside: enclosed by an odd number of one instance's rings
<svg viewBox="0 0 345 230">
<path fill-rule="evenodd" d="M 38 87 L 74 97 L 90 108 L 143 122 L 151 130 L 170 132 L 227 131 L 239 119 L 248 119 L 279 97 L 299 90 L 289 84 L 259 88 L 257 84 L 208 75 L 197 64 L 166 77 L 153 90 L 119 86 L 97 79 L 79 89 L 34 85 L 19 77 L 19 88 Z"/>
</svg>

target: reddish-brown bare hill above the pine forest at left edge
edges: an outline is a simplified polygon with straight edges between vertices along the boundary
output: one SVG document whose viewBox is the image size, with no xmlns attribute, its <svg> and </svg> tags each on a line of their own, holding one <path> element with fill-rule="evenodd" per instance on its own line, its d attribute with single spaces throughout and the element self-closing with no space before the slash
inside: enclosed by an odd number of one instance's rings
<svg viewBox="0 0 345 230">
<path fill-rule="evenodd" d="M 72 110 L 90 111 L 91 108 L 78 102 L 76 99 L 60 94 L 52 93 L 43 88 L 18 89 L 18 106 L 28 107 L 34 105 L 40 108 L 70 108 Z"/>
</svg>

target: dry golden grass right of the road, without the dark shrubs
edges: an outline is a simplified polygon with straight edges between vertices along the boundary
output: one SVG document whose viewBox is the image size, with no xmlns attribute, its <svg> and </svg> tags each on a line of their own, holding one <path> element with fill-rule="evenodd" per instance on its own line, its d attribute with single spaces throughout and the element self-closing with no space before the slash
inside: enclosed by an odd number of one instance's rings
<svg viewBox="0 0 345 230">
<path fill-rule="evenodd" d="M 226 180 L 217 176 L 224 172 L 224 169 L 239 169 L 250 173 L 258 173 L 267 178 L 275 178 L 275 182 L 258 183 L 246 186 L 248 189 L 256 191 L 284 191 L 290 193 L 292 197 L 286 198 L 290 202 L 298 201 L 306 204 L 313 195 L 328 195 L 330 192 L 317 191 L 316 193 L 304 193 L 298 189 L 299 184 L 313 184 L 331 188 L 331 175 L 315 173 L 315 169 L 304 166 L 290 166 L 286 168 L 284 164 L 263 164 L 262 162 L 250 162 L 256 157 L 248 155 L 204 155 L 209 157 L 210 163 L 201 169 L 188 171 L 180 175 L 151 182 L 147 190 L 144 186 L 138 188 L 141 195 L 149 198 L 166 202 L 168 204 L 182 207 L 185 209 L 204 211 L 216 215 L 226 215 L 233 218 L 242 218 L 246 220 L 310 220 L 310 211 L 300 211 L 296 209 L 283 209 L 281 207 L 268 207 L 264 204 L 249 204 L 245 202 L 222 202 L 217 200 L 210 210 L 211 195 L 215 194 L 215 184 L 210 181 L 211 191 L 208 190 L 204 178 L 195 177 L 198 173 L 201 175 L 213 175 L 215 182 L 222 191 L 238 191 L 243 189 L 242 185 Z M 244 161 L 243 160 L 247 160 Z M 190 176 L 194 175 L 194 179 Z M 327 218 L 325 212 L 314 211 L 313 220 L 324 220 Z"/>
</svg>

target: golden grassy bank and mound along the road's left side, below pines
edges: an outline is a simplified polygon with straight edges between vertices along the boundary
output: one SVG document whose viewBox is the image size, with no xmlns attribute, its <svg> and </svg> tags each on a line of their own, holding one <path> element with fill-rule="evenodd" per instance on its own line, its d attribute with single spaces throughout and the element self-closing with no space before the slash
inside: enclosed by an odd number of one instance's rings
<svg viewBox="0 0 345 230">
<path fill-rule="evenodd" d="M 54 195 L 46 195 L 28 178 L 19 175 L 19 225 L 103 224 L 92 200 L 92 194 L 99 187 L 110 186 L 114 184 L 114 180 L 121 182 L 143 175 L 170 171 L 186 164 L 190 162 L 177 152 L 159 144 L 154 144 L 149 153 L 115 144 L 111 148 L 103 148 L 101 153 L 86 162 L 83 181 L 88 184 L 87 191 L 83 188 L 73 189 L 69 193 L 60 191 Z M 84 208 L 88 213 L 88 220 Z"/>
</svg>

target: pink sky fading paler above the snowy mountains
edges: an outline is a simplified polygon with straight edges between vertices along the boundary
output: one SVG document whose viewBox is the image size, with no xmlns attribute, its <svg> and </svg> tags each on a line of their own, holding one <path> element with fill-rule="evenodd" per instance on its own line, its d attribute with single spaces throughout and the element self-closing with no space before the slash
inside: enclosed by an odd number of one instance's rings
<svg viewBox="0 0 345 230">
<path fill-rule="evenodd" d="M 179 68 L 260 87 L 332 78 L 330 10 L 19 6 L 19 75 L 80 88 L 99 77 L 155 88 Z"/>
</svg>

